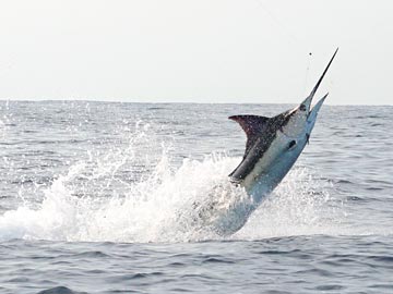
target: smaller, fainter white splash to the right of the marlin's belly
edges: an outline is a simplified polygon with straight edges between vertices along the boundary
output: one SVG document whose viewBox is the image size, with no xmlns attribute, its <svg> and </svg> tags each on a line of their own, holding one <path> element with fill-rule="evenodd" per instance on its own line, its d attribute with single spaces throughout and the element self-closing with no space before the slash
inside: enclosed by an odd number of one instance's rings
<svg viewBox="0 0 393 294">
<path fill-rule="evenodd" d="M 234 238 L 340 234 L 345 210 L 330 192 L 334 192 L 330 182 L 306 168 L 295 168 Z"/>
</svg>

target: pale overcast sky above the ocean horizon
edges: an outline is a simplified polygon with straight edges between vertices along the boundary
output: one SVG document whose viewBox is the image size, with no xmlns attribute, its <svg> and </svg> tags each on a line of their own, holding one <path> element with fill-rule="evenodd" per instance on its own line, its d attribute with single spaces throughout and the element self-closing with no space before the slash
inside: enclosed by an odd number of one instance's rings
<svg viewBox="0 0 393 294">
<path fill-rule="evenodd" d="M 0 99 L 392 105 L 392 3 L 0 0 Z"/>
</svg>

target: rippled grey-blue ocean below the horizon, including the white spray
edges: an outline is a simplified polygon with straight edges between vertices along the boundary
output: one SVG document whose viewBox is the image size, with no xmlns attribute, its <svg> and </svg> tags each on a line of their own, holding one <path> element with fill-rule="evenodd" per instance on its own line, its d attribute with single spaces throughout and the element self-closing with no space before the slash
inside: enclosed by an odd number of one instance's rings
<svg viewBox="0 0 393 294">
<path fill-rule="evenodd" d="M 0 293 L 393 293 L 393 107 L 324 106 L 240 231 L 192 226 L 242 193 L 227 117 L 289 107 L 0 101 Z"/>
</svg>

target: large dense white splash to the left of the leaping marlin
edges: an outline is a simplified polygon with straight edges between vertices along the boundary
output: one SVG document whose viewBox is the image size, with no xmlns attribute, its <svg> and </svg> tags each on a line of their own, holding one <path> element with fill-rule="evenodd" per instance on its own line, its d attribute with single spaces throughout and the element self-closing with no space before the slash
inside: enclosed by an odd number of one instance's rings
<svg viewBox="0 0 393 294">
<path fill-rule="evenodd" d="M 70 182 L 84 174 L 88 166 L 79 163 L 45 192 L 38 209 L 23 206 L 0 217 L 0 237 L 112 242 L 211 238 L 212 232 L 192 232 L 192 203 L 203 201 L 217 186 L 217 195 L 223 191 L 238 192 L 230 189 L 230 184 L 222 185 L 223 180 L 227 182 L 227 170 L 236 162 L 237 159 L 210 156 L 203 161 L 184 160 L 172 173 L 163 156 L 147 179 L 130 184 L 124 197 L 114 191 L 107 198 L 73 195 Z M 104 170 L 99 176 L 110 176 L 112 170 Z"/>
</svg>

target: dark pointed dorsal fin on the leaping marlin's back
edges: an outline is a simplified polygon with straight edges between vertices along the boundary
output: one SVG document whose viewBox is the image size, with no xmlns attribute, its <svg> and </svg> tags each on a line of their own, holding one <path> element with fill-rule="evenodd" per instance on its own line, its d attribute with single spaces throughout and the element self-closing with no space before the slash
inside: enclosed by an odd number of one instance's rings
<svg viewBox="0 0 393 294">
<path fill-rule="evenodd" d="M 233 115 L 228 118 L 229 120 L 236 121 L 240 124 L 241 128 L 246 132 L 247 143 L 246 143 L 246 152 L 249 151 L 252 144 L 261 135 L 265 128 L 270 118 L 259 117 L 259 115 Z"/>
</svg>

